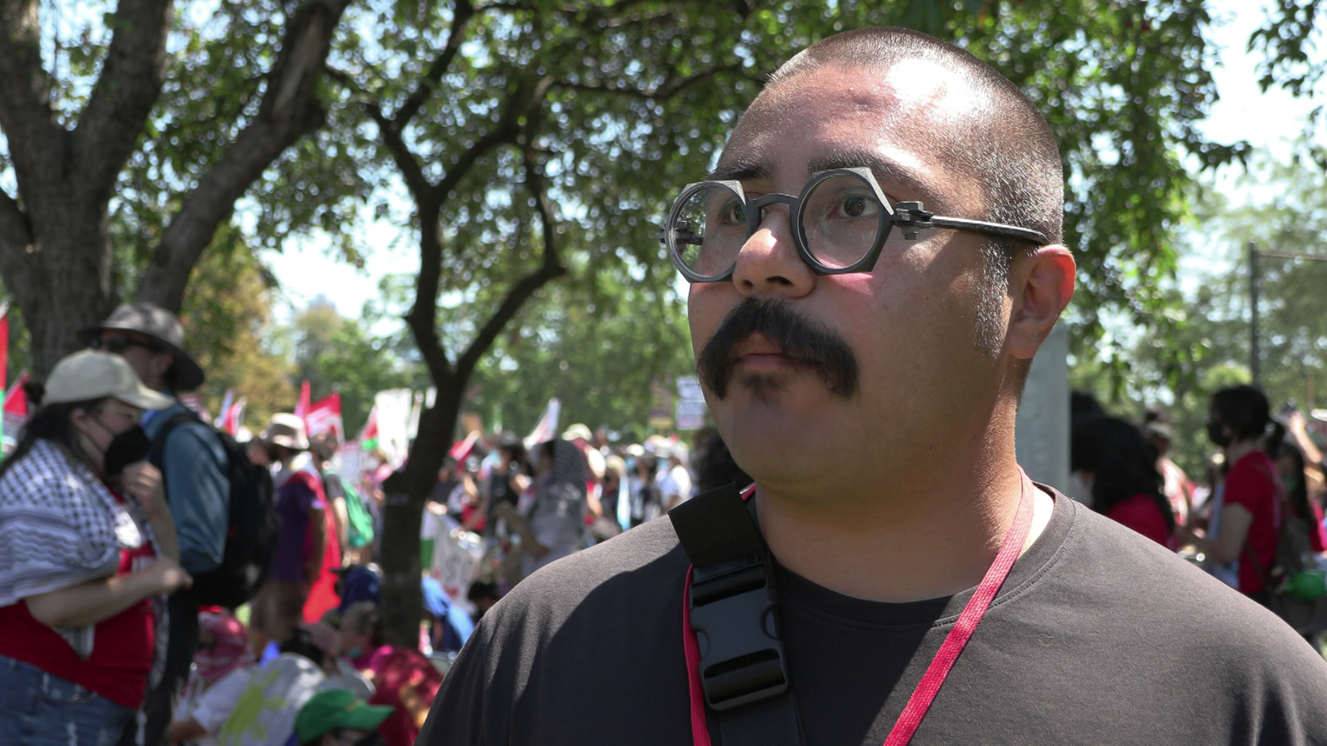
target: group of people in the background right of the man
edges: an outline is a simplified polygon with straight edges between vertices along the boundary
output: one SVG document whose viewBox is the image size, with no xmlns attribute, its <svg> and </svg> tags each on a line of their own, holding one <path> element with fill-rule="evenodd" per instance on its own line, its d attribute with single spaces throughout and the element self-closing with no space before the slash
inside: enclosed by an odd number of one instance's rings
<svg viewBox="0 0 1327 746">
<path fill-rule="evenodd" d="M 1212 458 L 1196 481 L 1169 458 L 1164 409 L 1135 425 L 1075 394 L 1070 495 L 1282 612 L 1291 585 L 1306 603 L 1324 595 L 1299 587 L 1327 567 L 1324 463 L 1310 429 L 1294 406 L 1274 417 L 1254 386 L 1221 389 L 1205 433 Z M 1322 632 L 1327 616 L 1315 612 L 1287 621 Z"/>
</svg>

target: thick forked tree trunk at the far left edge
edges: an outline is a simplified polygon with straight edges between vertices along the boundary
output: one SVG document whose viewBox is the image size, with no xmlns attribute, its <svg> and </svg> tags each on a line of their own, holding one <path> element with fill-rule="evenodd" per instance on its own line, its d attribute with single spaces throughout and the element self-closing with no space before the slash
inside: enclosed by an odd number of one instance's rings
<svg viewBox="0 0 1327 746">
<path fill-rule="evenodd" d="M 0 129 L 19 185 L 0 190 L 0 276 L 32 335 L 44 377 L 81 327 L 115 303 L 107 203 L 162 88 L 171 0 L 119 0 L 110 44 L 72 129 L 50 105 L 41 4 L 0 0 Z"/>
</svg>

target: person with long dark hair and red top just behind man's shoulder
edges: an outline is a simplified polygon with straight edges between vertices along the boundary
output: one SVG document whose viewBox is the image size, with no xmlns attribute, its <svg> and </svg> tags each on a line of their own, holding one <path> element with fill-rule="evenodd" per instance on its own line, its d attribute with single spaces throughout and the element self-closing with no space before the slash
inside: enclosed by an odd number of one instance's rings
<svg viewBox="0 0 1327 746">
<path fill-rule="evenodd" d="M 1174 550 L 1174 512 L 1156 463 L 1152 445 L 1123 419 L 1092 417 L 1074 426 L 1070 467 L 1091 485 L 1092 508 Z"/>
</svg>

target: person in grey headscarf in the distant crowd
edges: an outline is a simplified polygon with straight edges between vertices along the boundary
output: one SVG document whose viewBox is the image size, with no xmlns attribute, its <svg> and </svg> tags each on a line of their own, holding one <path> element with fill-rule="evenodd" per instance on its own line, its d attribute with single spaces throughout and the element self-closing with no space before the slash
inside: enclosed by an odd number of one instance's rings
<svg viewBox="0 0 1327 746">
<path fill-rule="evenodd" d="M 585 540 L 585 459 L 569 441 L 540 443 L 536 455 L 535 503 L 528 515 L 510 504 L 500 506 L 498 515 L 520 534 L 524 577 Z"/>
</svg>

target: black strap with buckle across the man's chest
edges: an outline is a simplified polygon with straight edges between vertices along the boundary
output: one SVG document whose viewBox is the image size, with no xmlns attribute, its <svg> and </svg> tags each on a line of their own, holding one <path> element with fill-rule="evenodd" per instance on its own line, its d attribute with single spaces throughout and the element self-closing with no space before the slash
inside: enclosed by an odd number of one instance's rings
<svg viewBox="0 0 1327 746">
<path fill-rule="evenodd" d="M 774 560 L 740 490 L 711 490 L 667 515 L 693 565 L 701 688 L 722 746 L 800 746 Z"/>
</svg>

